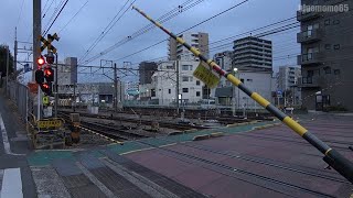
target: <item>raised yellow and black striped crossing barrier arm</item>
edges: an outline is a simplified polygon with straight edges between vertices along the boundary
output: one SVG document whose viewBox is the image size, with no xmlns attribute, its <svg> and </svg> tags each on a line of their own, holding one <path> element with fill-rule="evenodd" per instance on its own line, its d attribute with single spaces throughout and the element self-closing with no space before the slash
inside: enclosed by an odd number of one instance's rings
<svg viewBox="0 0 353 198">
<path fill-rule="evenodd" d="M 223 70 L 213 59 L 207 59 L 205 56 L 203 56 L 197 51 L 197 48 L 190 46 L 188 43 L 185 43 L 185 41 L 183 38 L 178 37 L 175 34 L 173 34 L 170 31 L 168 31 L 167 29 L 164 29 L 159 22 L 152 20 L 150 16 L 148 16 L 140 9 L 138 9 L 136 7 L 132 7 L 132 9 L 138 11 L 141 15 L 143 15 L 146 19 L 148 19 L 150 22 L 152 22 L 156 26 L 158 26 L 163 32 L 169 34 L 178 43 L 182 44 L 184 47 L 186 47 L 189 51 L 191 51 L 201 61 L 207 63 L 210 68 L 215 70 L 221 76 L 224 76 L 226 79 L 228 79 L 231 82 L 233 82 L 233 85 L 237 86 L 242 91 L 244 91 L 246 95 L 248 95 L 250 98 L 253 98 L 257 103 L 263 106 L 265 109 L 267 109 L 274 116 L 276 116 L 280 121 L 282 121 L 290 129 L 292 129 L 296 133 L 298 133 L 300 136 L 302 136 L 304 140 L 307 140 L 311 145 L 317 147 L 321 153 L 324 154 L 323 161 L 327 162 L 331 167 L 333 167 L 336 172 L 339 172 L 342 176 L 344 176 L 347 180 L 350 180 L 353 184 L 353 163 L 352 162 L 350 162 L 347 158 L 342 156 L 339 152 L 334 151 L 328 144 L 325 144 L 324 142 L 319 140 L 314 134 L 310 133 L 306 128 L 303 128 L 298 122 L 292 120 L 286 113 L 284 113 L 279 109 L 277 109 L 274 105 L 271 105 L 269 101 L 267 101 L 265 98 L 263 98 L 259 94 L 254 92 L 250 89 L 248 89 L 238 78 L 236 78 L 231 73 L 226 73 L 225 70 Z"/>
</svg>

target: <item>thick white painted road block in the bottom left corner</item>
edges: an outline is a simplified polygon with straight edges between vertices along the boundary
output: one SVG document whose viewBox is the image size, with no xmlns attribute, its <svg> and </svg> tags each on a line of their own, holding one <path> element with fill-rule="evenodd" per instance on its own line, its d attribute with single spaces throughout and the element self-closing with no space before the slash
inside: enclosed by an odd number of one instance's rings
<svg viewBox="0 0 353 198">
<path fill-rule="evenodd" d="M 23 198 L 20 168 L 4 169 L 0 197 Z"/>
</svg>

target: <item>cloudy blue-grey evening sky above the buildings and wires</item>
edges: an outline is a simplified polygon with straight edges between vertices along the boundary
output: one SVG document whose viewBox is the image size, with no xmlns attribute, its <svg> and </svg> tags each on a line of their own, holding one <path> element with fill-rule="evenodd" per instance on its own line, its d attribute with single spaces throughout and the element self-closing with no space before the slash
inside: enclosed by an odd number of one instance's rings
<svg viewBox="0 0 353 198">
<path fill-rule="evenodd" d="M 128 6 L 132 1 L 133 0 L 128 1 Z M 189 6 L 195 3 L 195 6 L 189 10 L 182 11 L 170 21 L 163 23 L 165 28 L 178 33 L 242 1 L 243 0 L 136 0 L 133 4 L 153 19 L 157 19 L 184 2 L 189 2 Z M 42 30 L 47 26 L 61 2 L 62 0 L 42 0 Z M 68 0 L 66 7 L 50 30 L 50 33 L 56 32 L 61 37 L 60 42 L 54 43 L 60 56 L 83 57 L 88 47 L 101 34 L 104 29 L 126 2 L 126 0 Z M 248 0 L 246 3 L 192 29 L 192 31 L 208 33 L 210 43 L 212 43 L 284 19 L 292 18 L 296 15 L 298 4 L 299 0 Z M 0 7 L 0 43 L 9 44 L 10 47 L 13 48 L 15 26 L 18 28 L 19 41 L 32 42 L 32 0 L 2 0 Z M 78 10 L 81 11 L 77 13 Z M 77 15 L 73 18 L 75 13 L 77 13 Z M 121 14 L 119 14 L 118 18 L 120 15 Z M 114 59 L 117 61 L 118 66 L 122 65 L 124 62 L 131 62 L 133 66 L 137 66 L 136 64 L 141 61 L 167 56 L 167 42 L 163 42 L 133 56 L 122 58 L 168 38 L 168 35 L 158 29 L 150 30 L 138 37 L 132 37 L 131 41 L 119 44 L 109 53 L 97 56 L 114 44 L 121 43 L 121 41 L 148 24 L 149 21 L 139 13 L 128 9 L 85 58 L 92 59 L 90 57 L 97 57 L 89 62 L 88 65 L 99 65 L 99 59 Z M 299 29 L 293 29 L 266 37 L 274 42 L 275 68 L 279 65 L 296 64 L 295 55 L 299 53 L 299 45 L 296 43 L 296 33 L 298 30 Z M 229 45 L 226 45 L 227 43 Z M 224 47 L 212 51 L 211 55 L 216 52 L 232 50 L 231 43 L 231 41 L 222 43 L 225 44 Z M 24 46 L 29 48 L 30 44 L 20 45 L 20 47 Z M 26 57 L 26 54 L 20 54 L 19 61 L 24 61 Z"/>
</svg>

